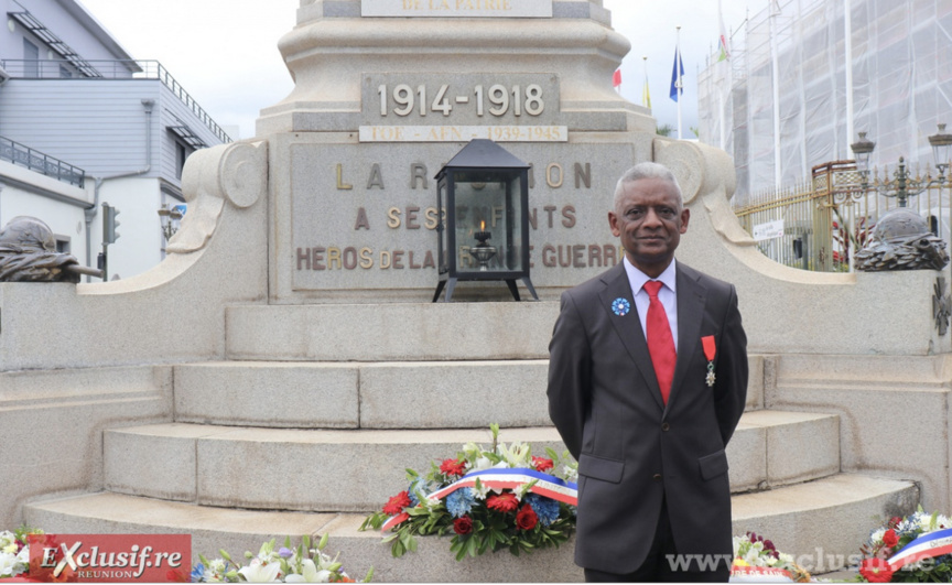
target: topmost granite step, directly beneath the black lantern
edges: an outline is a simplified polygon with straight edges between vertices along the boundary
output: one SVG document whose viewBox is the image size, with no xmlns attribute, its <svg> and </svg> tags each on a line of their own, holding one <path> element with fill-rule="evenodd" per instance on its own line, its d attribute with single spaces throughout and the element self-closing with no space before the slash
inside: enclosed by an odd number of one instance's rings
<svg viewBox="0 0 952 585">
<path fill-rule="evenodd" d="M 558 316 L 558 302 L 230 306 L 225 308 L 226 358 L 547 359 Z M 262 344 L 262 331 L 282 342 Z"/>
</svg>

